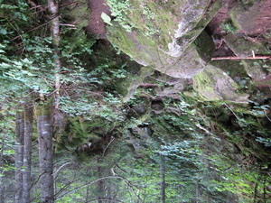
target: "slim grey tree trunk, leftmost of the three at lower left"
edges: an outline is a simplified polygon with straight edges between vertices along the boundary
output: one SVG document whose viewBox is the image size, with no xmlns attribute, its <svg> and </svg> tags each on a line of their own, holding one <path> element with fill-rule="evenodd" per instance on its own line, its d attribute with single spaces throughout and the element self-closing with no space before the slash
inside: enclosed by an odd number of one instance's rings
<svg viewBox="0 0 271 203">
<path fill-rule="evenodd" d="M 23 198 L 23 112 L 16 114 L 16 139 L 15 139 L 15 203 L 21 203 Z"/>
</svg>

